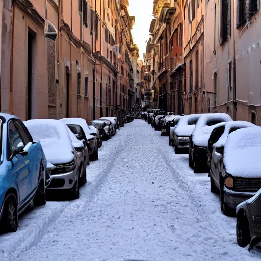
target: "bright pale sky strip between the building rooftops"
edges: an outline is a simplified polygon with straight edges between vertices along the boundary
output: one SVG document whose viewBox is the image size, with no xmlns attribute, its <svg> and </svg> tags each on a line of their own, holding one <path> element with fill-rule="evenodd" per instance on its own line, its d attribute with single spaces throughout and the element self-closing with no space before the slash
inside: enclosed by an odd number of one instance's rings
<svg viewBox="0 0 261 261">
<path fill-rule="evenodd" d="M 129 14 L 135 16 L 135 25 L 132 30 L 133 41 L 138 45 L 140 59 L 146 52 L 149 39 L 149 25 L 153 19 L 153 0 L 129 0 Z"/>
</svg>

